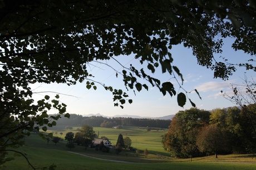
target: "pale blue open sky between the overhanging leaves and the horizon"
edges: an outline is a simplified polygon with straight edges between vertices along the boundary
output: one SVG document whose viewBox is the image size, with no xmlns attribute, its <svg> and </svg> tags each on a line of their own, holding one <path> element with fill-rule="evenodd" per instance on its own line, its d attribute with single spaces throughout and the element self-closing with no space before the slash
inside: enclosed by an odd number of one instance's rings
<svg viewBox="0 0 256 170">
<path fill-rule="evenodd" d="M 250 58 L 250 56 L 243 53 L 243 51 L 234 51 L 231 47 L 233 39 L 225 39 L 222 54 L 215 54 L 214 57 L 223 61 L 220 56 L 227 58 L 230 63 L 243 63 Z M 197 89 L 200 93 L 201 100 L 195 92 L 189 94 L 190 99 L 196 104 L 196 107 L 204 110 L 212 110 L 215 108 L 223 108 L 235 106 L 232 102 L 224 99 L 220 91 L 230 92 L 230 84 L 242 84 L 244 73 L 248 78 L 254 78 L 254 71 L 247 71 L 244 68 L 237 68 L 237 71 L 230 76 L 229 80 L 214 79 L 213 70 L 207 69 L 204 66 L 197 64 L 196 57 L 192 54 L 192 50 L 184 48 L 182 44 L 173 46 L 170 50 L 174 62 L 173 65 L 178 66 L 184 77 L 184 89 L 191 91 Z M 145 68 L 145 65 L 140 65 L 139 60 L 134 59 L 134 55 L 117 56 L 116 59 L 125 66 L 132 64 L 137 69 Z M 122 67 L 114 60 L 107 61 L 107 64 L 113 66 L 121 71 Z M 144 69 L 145 70 L 145 69 Z M 95 80 L 104 83 L 105 85 L 112 85 L 116 89 L 125 90 L 125 85 L 121 76 L 116 78 L 116 72 L 106 65 L 99 63 L 90 63 L 88 71 L 95 76 Z M 156 78 L 161 82 L 170 81 L 174 84 L 176 91 L 179 90 L 179 85 L 168 74 L 162 74 L 161 70 L 156 70 L 154 73 Z M 143 80 L 142 80 L 143 82 Z M 127 91 L 130 99 L 133 100 L 132 104 L 125 104 L 124 109 L 114 106 L 112 94 L 106 91 L 104 87 L 97 85 L 97 90 L 86 89 L 86 82 L 77 83 L 76 85 L 68 86 L 66 84 L 33 84 L 31 85 L 33 92 L 54 91 L 66 95 L 60 95 L 60 100 L 67 104 L 67 112 L 70 114 L 101 114 L 105 116 L 114 115 L 137 115 L 137 116 L 150 116 L 161 117 L 166 115 L 174 115 L 179 110 L 189 109 L 191 104 L 187 101 L 184 107 L 178 106 L 176 96 L 171 97 L 169 94 L 163 94 L 156 88 L 149 86 L 149 91 L 142 90 L 136 92 L 132 90 Z M 43 99 L 44 95 L 55 96 L 52 93 L 39 93 L 34 94 L 35 100 Z M 72 95 L 72 96 L 67 96 Z M 74 96 L 74 97 L 73 97 Z M 54 113 L 54 111 L 52 112 Z"/>
</svg>

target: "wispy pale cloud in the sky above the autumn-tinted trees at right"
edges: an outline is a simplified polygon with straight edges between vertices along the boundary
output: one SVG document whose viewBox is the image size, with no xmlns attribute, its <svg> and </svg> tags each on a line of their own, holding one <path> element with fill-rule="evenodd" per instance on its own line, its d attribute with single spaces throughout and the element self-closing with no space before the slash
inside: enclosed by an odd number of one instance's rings
<svg viewBox="0 0 256 170">
<path fill-rule="evenodd" d="M 216 82 L 216 81 L 209 81 L 206 83 L 203 83 L 199 86 L 196 86 L 195 89 L 201 92 L 207 92 L 207 91 L 220 91 L 230 86 L 230 83 L 225 82 Z"/>
</svg>

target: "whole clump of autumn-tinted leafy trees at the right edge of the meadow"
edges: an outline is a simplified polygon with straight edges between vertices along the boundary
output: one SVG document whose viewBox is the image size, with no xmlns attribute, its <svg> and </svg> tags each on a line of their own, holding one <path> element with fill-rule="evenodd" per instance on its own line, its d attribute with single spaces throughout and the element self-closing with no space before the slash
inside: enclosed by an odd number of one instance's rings
<svg viewBox="0 0 256 170">
<path fill-rule="evenodd" d="M 256 152 L 256 104 L 211 112 L 179 111 L 163 137 L 164 148 L 178 158 Z"/>
</svg>

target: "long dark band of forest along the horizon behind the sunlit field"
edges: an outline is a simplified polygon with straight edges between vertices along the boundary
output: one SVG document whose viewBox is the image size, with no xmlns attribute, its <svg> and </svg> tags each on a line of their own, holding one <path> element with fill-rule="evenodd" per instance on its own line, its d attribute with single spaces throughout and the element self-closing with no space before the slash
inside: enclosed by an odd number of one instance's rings
<svg viewBox="0 0 256 170">
<path fill-rule="evenodd" d="M 102 116 L 82 116 L 72 114 L 70 119 L 62 117 L 57 121 L 57 126 L 102 126 L 102 127 L 112 127 L 112 126 L 140 126 L 140 127 L 159 127 L 168 128 L 170 125 L 170 120 L 155 120 L 155 119 L 134 119 L 131 117 L 102 117 Z M 106 125 L 106 126 L 105 126 Z"/>
</svg>

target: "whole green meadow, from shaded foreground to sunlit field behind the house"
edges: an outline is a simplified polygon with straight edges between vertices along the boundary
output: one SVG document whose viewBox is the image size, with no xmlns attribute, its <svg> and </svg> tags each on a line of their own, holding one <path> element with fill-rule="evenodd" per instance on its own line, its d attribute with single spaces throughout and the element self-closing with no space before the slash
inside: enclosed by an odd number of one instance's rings
<svg viewBox="0 0 256 170">
<path fill-rule="evenodd" d="M 108 128 L 94 129 L 96 132 L 97 130 L 100 131 L 100 136 L 111 138 L 113 143 L 115 143 L 117 135 L 122 133 L 124 136 L 131 137 L 133 144 L 139 146 L 141 150 L 147 148 L 148 150 L 153 150 L 153 152 L 150 151 L 151 153 L 165 153 L 158 146 L 161 144 L 161 140 L 157 140 L 157 136 L 161 136 L 164 132 L 146 132 L 146 130 L 137 127 L 126 127 L 123 130 Z M 135 142 L 135 140 L 137 141 Z M 151 146 L 155 143 L 158 143 L 157 147 Z M 151 154 L 148 158 L 142 155 L 137 157 L 136 154 L 131 152 L 121 152 L 119 155 L 116 155 L 115 152 L 103 153 L 101 151 L 95 151 L 92 148 L 85 150 L 81 146 L 76 146 L 72 150 L 69 150 L 65 144 L 65 142 L 60 142 L 55 145 L 50 141 L 47 145 L 47 142 L 42 140 L 37 134 L 32 134 L 25 138 L 25 146 L 18 148 L 18 150 L 26 153 L 31 163 L 37 168 L 50 166 L 54 163 L 57 169 L 256 169 L 256 157 L 243 154 L 219 155 L 218 159 L 215 159 L 214 156 L 193 158 L 193 161 L 190 162 L 190 159 L 151 159 L 155 158 L 154 154 Z M 70 151 L 75 153 L 70 153 Z M 90 158 L 76 153 L 97 158 Z M 9 152 L 9 155 L 15 159 L 5 163 L 4 167 L 0 167 L 1 169 L 31 169 L 23 157 L 12 152 Z M 112 162 L 99 158 L 129 162 Z"/>
</svg>

